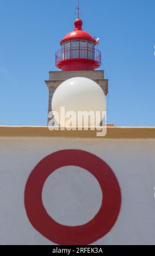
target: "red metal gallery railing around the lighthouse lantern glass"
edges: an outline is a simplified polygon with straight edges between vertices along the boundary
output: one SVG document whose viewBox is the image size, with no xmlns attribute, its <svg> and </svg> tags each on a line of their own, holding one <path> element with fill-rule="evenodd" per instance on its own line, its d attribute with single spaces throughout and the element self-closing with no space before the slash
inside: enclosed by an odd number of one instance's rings
<svg viewBox="0 0 155 256">
<path fill-rule="evenodd" d="M 90 59 L 95 60 L 101 66 L 101 52 L 90 47 L 62 48 L 55 53 L 55 64 L 68 59 Z"/>
</svg>

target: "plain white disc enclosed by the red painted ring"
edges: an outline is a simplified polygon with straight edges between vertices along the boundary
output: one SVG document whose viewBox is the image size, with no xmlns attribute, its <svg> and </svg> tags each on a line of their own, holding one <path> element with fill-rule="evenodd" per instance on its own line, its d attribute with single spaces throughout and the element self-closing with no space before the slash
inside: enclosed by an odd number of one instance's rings
<svg viewBox="0 0 155 256">
<path fill-rule="evenodd" d="M 42 202 L 54 221 L 74 227 L 96 216 L 102 205 L 102 190 L 96 178 L 83 168 L 67 166 L 49 175 Z"/>
</svg>

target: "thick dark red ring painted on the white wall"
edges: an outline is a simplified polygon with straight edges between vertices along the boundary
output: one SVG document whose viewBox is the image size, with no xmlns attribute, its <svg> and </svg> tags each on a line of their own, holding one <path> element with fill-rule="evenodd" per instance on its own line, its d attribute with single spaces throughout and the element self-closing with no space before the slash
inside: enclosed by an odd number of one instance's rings
<svg viewBox="0 0 155 256">
<path fill-rule="evenodd" d="M 88 170 L 98 180 L 104 198 L 97 215 L 90 222 L 69 227 L 55 222 L 42 203 L 42 188 L 49 175 L 64 166 Z M 106 235 L 120 212 L 119 183 L 110 167 L 99 157 L 82 150 L 62 150 L 43 159 L 27 180 L 24 203 L 33 227 L 47 239 L 59 245 L 88 245 Z"/>
</svg>

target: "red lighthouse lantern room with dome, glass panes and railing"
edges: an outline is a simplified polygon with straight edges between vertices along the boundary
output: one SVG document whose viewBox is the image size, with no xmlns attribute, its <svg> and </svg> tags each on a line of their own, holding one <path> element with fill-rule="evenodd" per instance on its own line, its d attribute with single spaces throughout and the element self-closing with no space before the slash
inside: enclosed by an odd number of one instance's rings
<svg viewBox="0 0 155 256">
<path fill-rule="evenodd" d="M 95 70 L 101 66 L 101 52 L 97 41 L 82 29 L 81 19 L 75 21 L 75 30 L 60 41 L 61 49 L 55 54 L 55 65 L 61 71 Z"/>
</svg>

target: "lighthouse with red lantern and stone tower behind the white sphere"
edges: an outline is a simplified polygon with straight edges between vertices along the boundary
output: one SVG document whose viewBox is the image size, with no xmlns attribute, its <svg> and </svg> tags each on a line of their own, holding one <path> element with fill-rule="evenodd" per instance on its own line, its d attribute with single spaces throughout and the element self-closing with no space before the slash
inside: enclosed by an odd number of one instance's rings
<svg viewBox="0 0 155 256">
<path fill-rule="evenodd" d="M 61 71 L 50 71 L 49 80 L 45 81 L 49 90 L 48 114 L 52 111 L 55 89 L 69 78 L 90 78 L 98 83 L 105 95 L 108 94 L 108 80 L 104 79 L 104 71 L 96 70 L 101 66 L 101 52 L 96 48 L 98 41 L 82 29 L 83 21 L 79 14 L 74 26 L 75 29 L 60 41 L 61 48 L 55 53 L 55 65 Z"/>
</svg>

